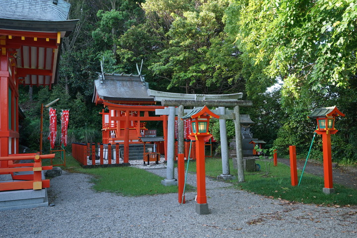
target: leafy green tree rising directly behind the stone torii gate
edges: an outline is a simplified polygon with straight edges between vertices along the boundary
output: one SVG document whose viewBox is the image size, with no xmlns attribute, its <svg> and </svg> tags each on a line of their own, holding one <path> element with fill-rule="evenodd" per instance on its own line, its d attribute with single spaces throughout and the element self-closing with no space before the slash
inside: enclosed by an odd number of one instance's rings
<svg viewBox="0 0 357 238">
<path fill-rule="evenodd" d="M 169 81 L 167 89 L 185 93 L 223 93 L 241 85 L 239 50 L 223 32 L 227 0 L 198 2 L 193 11 L 171 9 L 173 21 L 159 61 L 149 66 Z M 181 9 L 181 8 L 179 8 Z M 179 89 L 180 91 L 182 89 Z"/>
</svg>

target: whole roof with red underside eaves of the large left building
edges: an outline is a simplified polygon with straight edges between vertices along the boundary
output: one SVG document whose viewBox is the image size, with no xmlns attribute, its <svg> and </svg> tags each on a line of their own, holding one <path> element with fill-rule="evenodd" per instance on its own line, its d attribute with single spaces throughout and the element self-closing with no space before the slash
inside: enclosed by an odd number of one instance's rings
<svg viewBox="0 0 357 238">
<path fill-rule="evenodd" d="M 64 0 L 0 0 L 0 35 L 17 61 L 19 83 L 56 83 L 61 40 L 78 20 L 67 20 Z"/>
</svg>

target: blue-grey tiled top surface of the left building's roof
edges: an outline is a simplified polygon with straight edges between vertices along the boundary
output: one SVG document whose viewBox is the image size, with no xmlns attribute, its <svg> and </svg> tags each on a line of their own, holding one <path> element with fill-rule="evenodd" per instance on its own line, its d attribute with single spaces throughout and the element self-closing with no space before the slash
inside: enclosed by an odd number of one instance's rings
<svg viewBox="0 0 357 238">
<path fill-rule="evenodd" d="M 4 19 L 65 21 L 69 9 L 64 0 L 0 0 L 0 18 Z"/>
</svg>

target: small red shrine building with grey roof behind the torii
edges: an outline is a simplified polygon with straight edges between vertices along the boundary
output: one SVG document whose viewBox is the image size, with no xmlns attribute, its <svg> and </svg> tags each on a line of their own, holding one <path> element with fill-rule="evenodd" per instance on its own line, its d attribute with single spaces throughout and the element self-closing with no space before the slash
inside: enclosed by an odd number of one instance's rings
<svg viewBox="0 0 357 238">
<path fill-rule="evenodd" d="M 143 75 L 102 73 L 95 80 L 93 102 L 103 104 L 109 110 L 102 112 L 103 144 L 123 145 L 123 163 L 129 163 L 129 145 L 142 146 L 139 139 L 148 130 L 147 121 L 162 121 L 164 138 L 167 136 L 168 117 L 155 115 L 156 109 L 164 107 L 155 106 L 147 89 Z M 166 142 L 158 145 L 158 150 L 166 154 Z"/>
</svg>

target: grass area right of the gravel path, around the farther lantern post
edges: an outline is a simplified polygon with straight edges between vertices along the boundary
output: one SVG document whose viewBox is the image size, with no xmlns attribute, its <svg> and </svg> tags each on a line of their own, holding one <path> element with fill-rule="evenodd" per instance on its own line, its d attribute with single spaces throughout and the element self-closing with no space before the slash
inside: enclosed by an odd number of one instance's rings
<svg viewBox="0 0 357 238">
<path fill-rule="evenodd" d="M 266 176 L 264 161 L 256 160 L 255 163 L 261 166 L 260 172 L 244 172 L 245 182 L 238 182 L 237 179 L 229 182 L 232 182 L 237 189 L 243 189 L 275 199 L 323 205 L 357 205 L 356 189 L 334 183 L 336 192 L 327 195 L 322 192 L 322 188 L 324 187 L 323 178 L 307 173 L 303 174 L 300 185 L 293 187 L 291 185 L 290 167 L 281 163 L 278 163 L 278 166 L 274 167 L 271 161 L 270 171 L 268 176 Z M 231 162 L 230 168 L 233 168 Z M 188 170 L 190 172 L 196 171 L 196 163 L 194 161 L 189 162 Z M 221 159 L 206 159 L 206 175 L 216 178 L 221 174 Z M 231 169 L 231 174 L 237 175 L 237 170 Z M 300 179 L 300 174 L 301 171 L 298 171 L 298 179 Z"/>
</svg>

